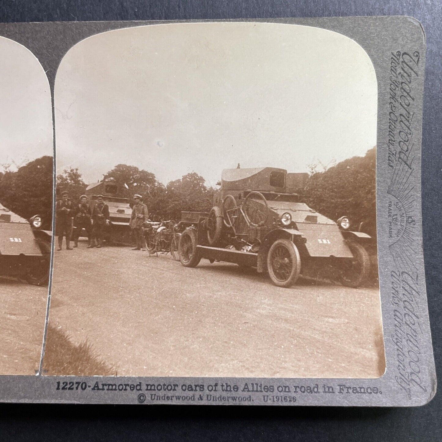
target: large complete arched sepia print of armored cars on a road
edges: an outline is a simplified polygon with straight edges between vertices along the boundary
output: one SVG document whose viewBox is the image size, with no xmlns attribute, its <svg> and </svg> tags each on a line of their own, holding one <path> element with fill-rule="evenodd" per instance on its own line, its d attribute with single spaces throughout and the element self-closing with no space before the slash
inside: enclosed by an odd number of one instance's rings
<svg viewBox="0 0 442 442">
<path fill-rule="evenodd" d="M 65 54 L 54 108 L 43 374 L 384 374 L 361 46 L 278 23 L 112 30 Z"/>
</svg>

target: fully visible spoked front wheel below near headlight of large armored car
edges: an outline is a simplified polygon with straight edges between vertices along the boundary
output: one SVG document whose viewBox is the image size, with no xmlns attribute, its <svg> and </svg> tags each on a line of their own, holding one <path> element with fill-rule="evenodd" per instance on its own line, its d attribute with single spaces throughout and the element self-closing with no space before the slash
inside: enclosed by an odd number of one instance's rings
<svg viewBox="0 0 442 442">
<path fill-rule="evenodd" d="M 299 277 L 301 258 L 292 241 L 276 240 L 267 254 L 267 269 L 275 286 L 290 287 Z"/>
</svg>

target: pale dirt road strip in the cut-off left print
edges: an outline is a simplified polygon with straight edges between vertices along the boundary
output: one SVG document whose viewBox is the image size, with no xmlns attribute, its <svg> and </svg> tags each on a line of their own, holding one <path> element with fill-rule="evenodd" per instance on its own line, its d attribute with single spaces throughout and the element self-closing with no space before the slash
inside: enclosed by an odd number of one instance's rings
<svg viewBox="0 0 442 442">
<path fill-rule="evenodd" d="M 0 374 L 38 370 L 47 299 L 47 287 L 0 278 Z"/>
</svg>

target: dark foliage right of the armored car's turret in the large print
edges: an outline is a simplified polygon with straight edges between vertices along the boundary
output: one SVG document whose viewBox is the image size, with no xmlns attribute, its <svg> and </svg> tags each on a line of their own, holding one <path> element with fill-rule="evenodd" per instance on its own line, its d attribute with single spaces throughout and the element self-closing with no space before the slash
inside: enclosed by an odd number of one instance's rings
<svg viewBox="0 0 442 442">
<path fill-rule="evenodd" d="M 351 229 L 376 237 L 376 148 L 322 171 L 312 166 L 306 203 L 332 220 L 346 215 Z"/>
</svg>

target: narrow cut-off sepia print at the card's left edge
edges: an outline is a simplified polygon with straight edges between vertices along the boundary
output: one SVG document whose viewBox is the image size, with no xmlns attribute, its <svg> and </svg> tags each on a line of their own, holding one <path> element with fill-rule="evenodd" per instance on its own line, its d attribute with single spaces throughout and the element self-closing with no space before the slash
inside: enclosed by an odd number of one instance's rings
<svg viewBox="0 0 442 442">
<path fill-rule="evenodd" d="M 0 375 L 34 375 L 50 277 L 51 95 L 24 46 L 0 37 L 0 58 Z"/>
</svg>

